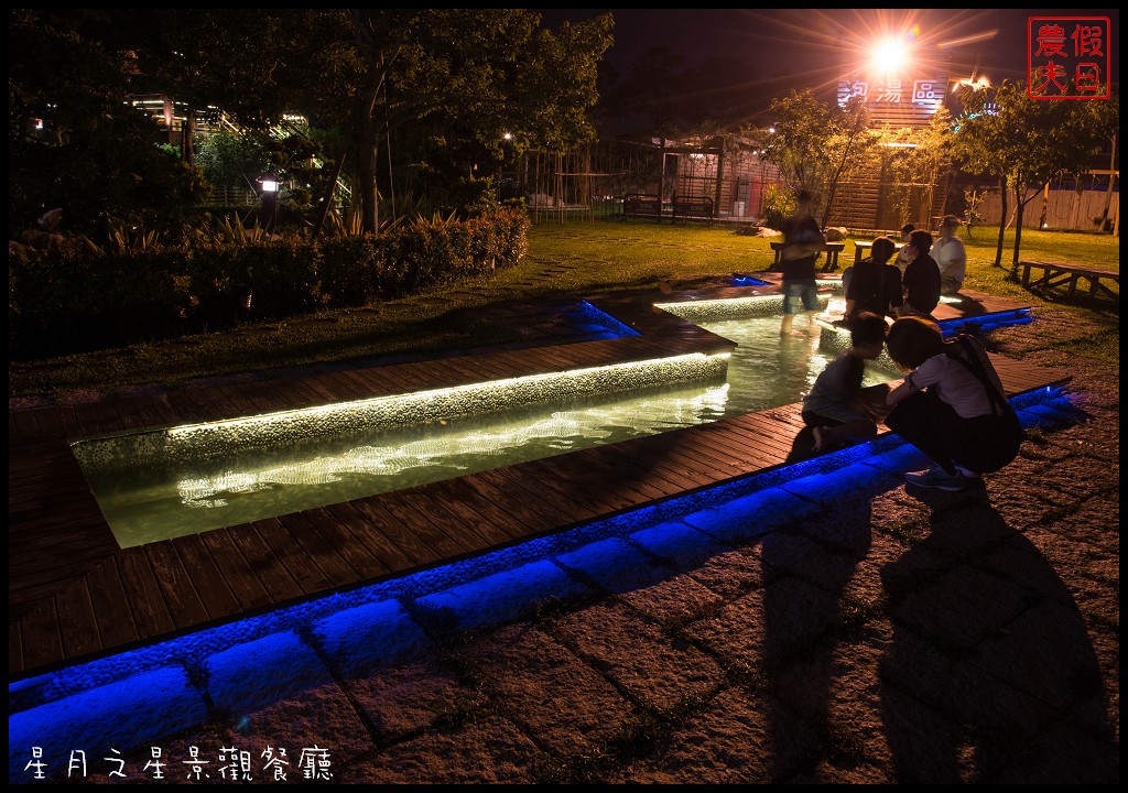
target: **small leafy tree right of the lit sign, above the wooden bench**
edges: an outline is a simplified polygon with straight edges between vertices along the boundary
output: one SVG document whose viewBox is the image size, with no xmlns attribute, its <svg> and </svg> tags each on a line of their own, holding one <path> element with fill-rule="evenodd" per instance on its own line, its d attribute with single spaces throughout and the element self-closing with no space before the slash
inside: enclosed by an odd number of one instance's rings
<svg viewBox="0 0 1128 793">
<path fill-rule="evenodd" d="M 1017 271 L 1023 208 L 1055 176 L 1089 170 L 1091 158 L 1119 130 L 1119 95 L 1108 100 L 1032 99 L 1025 83 L 1004 82 L 994 91 L 967 89 L 961 98 L 967 113 L 955 132 L 957 151 L 967 171 L 999 180 L 1003 214 L 996 267 L 1003 266 L 1011 191 L 1015 200 L 1012 267 Z"/>
</svg>

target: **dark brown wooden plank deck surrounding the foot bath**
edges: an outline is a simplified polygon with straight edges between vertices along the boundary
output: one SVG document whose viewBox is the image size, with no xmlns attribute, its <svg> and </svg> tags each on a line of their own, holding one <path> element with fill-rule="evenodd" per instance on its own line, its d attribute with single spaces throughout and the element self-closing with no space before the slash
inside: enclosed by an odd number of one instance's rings
<svg viewBox="0 0 1128 793">
<path fill-rule="evenodd" d="M 784 465 L 802 428 L 799 405 L 122 549 L 70 449 L 89 435 L 732 349 L 655 311 L 653 299 L 592 300 L 636 337 L 9 411 L 9 680 Z M 1012 395 L 1068 379 L 1016 361 L 997 364 Z"/>
</svg>

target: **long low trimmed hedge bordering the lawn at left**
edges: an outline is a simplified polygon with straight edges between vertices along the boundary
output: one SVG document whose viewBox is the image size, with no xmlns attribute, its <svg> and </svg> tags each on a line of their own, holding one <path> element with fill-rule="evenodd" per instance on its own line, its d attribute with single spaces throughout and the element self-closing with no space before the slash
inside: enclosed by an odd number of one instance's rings
<svg viewBox="0 0 1128 793">
<path fill-rule="evenodd" d="M 9 250 L 9 355 L 89 352 L 413 294 L 515 266 L 528 252 L 529 224 L 523 210 L 499 208 L 316 243 L 205 241 L 53 256 Z"/>
</svg>

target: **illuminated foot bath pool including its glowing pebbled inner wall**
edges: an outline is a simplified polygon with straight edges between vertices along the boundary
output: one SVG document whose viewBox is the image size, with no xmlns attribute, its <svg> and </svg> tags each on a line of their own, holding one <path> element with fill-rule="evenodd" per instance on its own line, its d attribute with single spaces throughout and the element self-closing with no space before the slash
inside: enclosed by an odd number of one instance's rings
<svg viewBox="0 0 1128 793">
<path fill-rule="evenodd" d="M 660 305 L 735 342 L 735 351 L 82 439 L 72 448 L 115 538 L 131 547 L 792 404 L 848 341 L 830 329 L 781 338 L 778 298 Z M 896 377 L 879 359 L 865 385 Z"/>
</svg>

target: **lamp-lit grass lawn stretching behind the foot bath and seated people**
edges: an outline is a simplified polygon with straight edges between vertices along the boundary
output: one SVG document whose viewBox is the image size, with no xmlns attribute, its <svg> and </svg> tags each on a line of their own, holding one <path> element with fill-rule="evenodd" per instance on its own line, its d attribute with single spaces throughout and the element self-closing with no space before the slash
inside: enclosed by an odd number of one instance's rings
<svg viewBox="0 0 1128 793">
<path fill-rule="evenodd" d="M 1010 266 L 993 265 L 996 236 L 996 229 L 980 227 L 969 240 L 967 230 L 961 230 L 968 249 L 964 285 L 1029 301 L 1037 316 L 1038 308 L 1049 301 L 1023 289 Z M 1004 265 L 1012 258 L 1013 243 L 1013 232 L 1008 232 Z M 1113 235 L 1024 230 L 1022 258 L 1119 271 L 1120 239 Z M 500 344 L 527 338 L 529 328 L 490 321 L 484 309 L 522 301 L 566 301 L 602 291 L 652 290 L 664 284 L 676 289 L 703 277 L 766 270 L 773 259 L 767 239 L 731 228 L 619 220 L 541 223 L 532 227 L 529 255 L 520 266 L 494 275 L 361 310 L 326 311 L 50 361 L 10 361 L 8 396 L 67 399 L 76 393 L 108 393 L 149 384 L 177 386 L 237 372 Z M 852 261 L 853 246 L 847 244 L 840 267 Z M 1111 327 L 1083 340 L 1084 352 L 1077 352 L 1119 362 L 1119 307 L 1052 305 L 1100 315 L 1105 326 L 1111 320 Z M 532 325 L 534 318 L 529 319 Z"/>
</svg>

